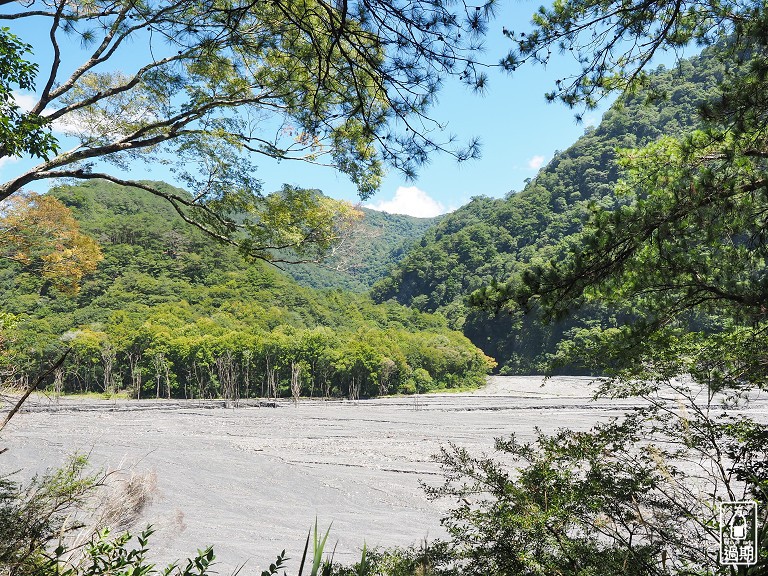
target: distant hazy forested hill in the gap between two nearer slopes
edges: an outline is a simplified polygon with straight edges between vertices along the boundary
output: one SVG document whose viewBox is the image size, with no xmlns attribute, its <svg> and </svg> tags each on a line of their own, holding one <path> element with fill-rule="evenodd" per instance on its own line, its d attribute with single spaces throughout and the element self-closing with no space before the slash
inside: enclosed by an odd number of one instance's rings
<svg viewBox="0 0 768 576">
<path fill-rule="evenodd" d="M 366 292 L 398 264 L 440 217 L 415 218 L 359 208 L 363 218 L 339 254 L 322 264 L 286 266 L 301 285 L 311 288 L 341 288 Z"/>
</svg>

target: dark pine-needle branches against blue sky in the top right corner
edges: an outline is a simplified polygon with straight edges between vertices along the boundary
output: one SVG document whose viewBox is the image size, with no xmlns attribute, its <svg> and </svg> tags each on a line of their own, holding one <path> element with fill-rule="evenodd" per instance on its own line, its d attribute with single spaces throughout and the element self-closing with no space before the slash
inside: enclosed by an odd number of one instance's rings
<svg viewBox="0 0 768 576">
<path fill-rule="evenodd" d="M 553 53 L 570 56 L 577 71 L 556 78 L 546 97 L 571 108 L 592 109 L 609 93 L 647 87 L 648 68 L 664 52 L 681 58 L 686 49 L 727 38 L 734 47 L 732 65 L 745 55 L 761 54 L 765 26 L 761 2 L 565 0 L 541 6 L 530 31 L 505 28 L 513 47 L 501 64 L 514 72 L 530 63 L 546 65 Z"/>
</svg>

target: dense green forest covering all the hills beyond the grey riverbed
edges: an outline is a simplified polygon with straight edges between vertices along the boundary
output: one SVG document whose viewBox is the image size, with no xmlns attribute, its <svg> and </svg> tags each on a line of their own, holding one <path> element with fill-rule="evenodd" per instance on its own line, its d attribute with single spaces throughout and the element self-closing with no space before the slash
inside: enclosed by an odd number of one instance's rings
<svg viewBox="0 0 768 576">
<path fill-rule="evenodd" d="M 6 376 L 24 381 L 70 346 L 57 389 L 138 396 L 413 393 L 479 383 L 492 365 L 485 354 L 502 373 L 541 372 L 579 328 L 619 325 L 624 313 L 592 303 L 546 324 L 535 313 L 472 307 L 468 296 L 552 258 L 594 206 L 620 203 L 617 150 L 694 126 L 721 76 L 707 51 L 660 67 L 523 191 L 478 196 L 438 219 L 362 209 L 322 265 L 247 263 L 146 191 L 56 187 L 51 196 L 104 259 L 76 294 L 3 263 Z M 379 304 L 363 294 L 371 286 Z"/>
</svg>

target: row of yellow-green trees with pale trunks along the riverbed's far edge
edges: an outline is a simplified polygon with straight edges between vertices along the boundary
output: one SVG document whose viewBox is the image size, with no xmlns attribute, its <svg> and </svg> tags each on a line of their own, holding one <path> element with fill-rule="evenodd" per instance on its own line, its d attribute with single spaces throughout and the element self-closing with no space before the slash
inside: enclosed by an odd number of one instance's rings
<svg viewBox="0 0 768 576">
<path fill-rule="evenodd" d="M 115 393 L 133 397 L 253 398 L 413 394 L 476 386 L 490 360 L 455 332 L 280 325 L 269 332 L 221 329 L 200 319 L 168 328 L 162 311 L 141 324 L 116 314 L 106 331 L 66 332 L 36 357 L 17 353 L 15 374 L 28 379 L 41 358 L 70 348 L 53 375 L 58 393 Z M 231 319 L 231 318 L 230 318 Z M 13 373 L 6 374 L 6 380 Z M 19 382 L 24 384 L 25 382 Z"/>
</svg>

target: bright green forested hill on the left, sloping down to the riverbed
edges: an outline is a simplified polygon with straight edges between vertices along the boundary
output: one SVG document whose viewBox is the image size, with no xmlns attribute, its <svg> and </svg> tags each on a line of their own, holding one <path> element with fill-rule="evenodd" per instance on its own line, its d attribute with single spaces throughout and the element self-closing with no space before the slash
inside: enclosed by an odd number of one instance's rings
<svg viewBox="0 0 768 576">
<path fill-rule="evenodd" d="M 441 316 L 302 287 L 142 190 L 94 180 L 50 195 L 104 258 L 75 294 L 0 264 L 6 380 L 67 347 L 57 387 L 142 397 L 407 393 L 479 383 L 492 365 Z"/>
</svg>

